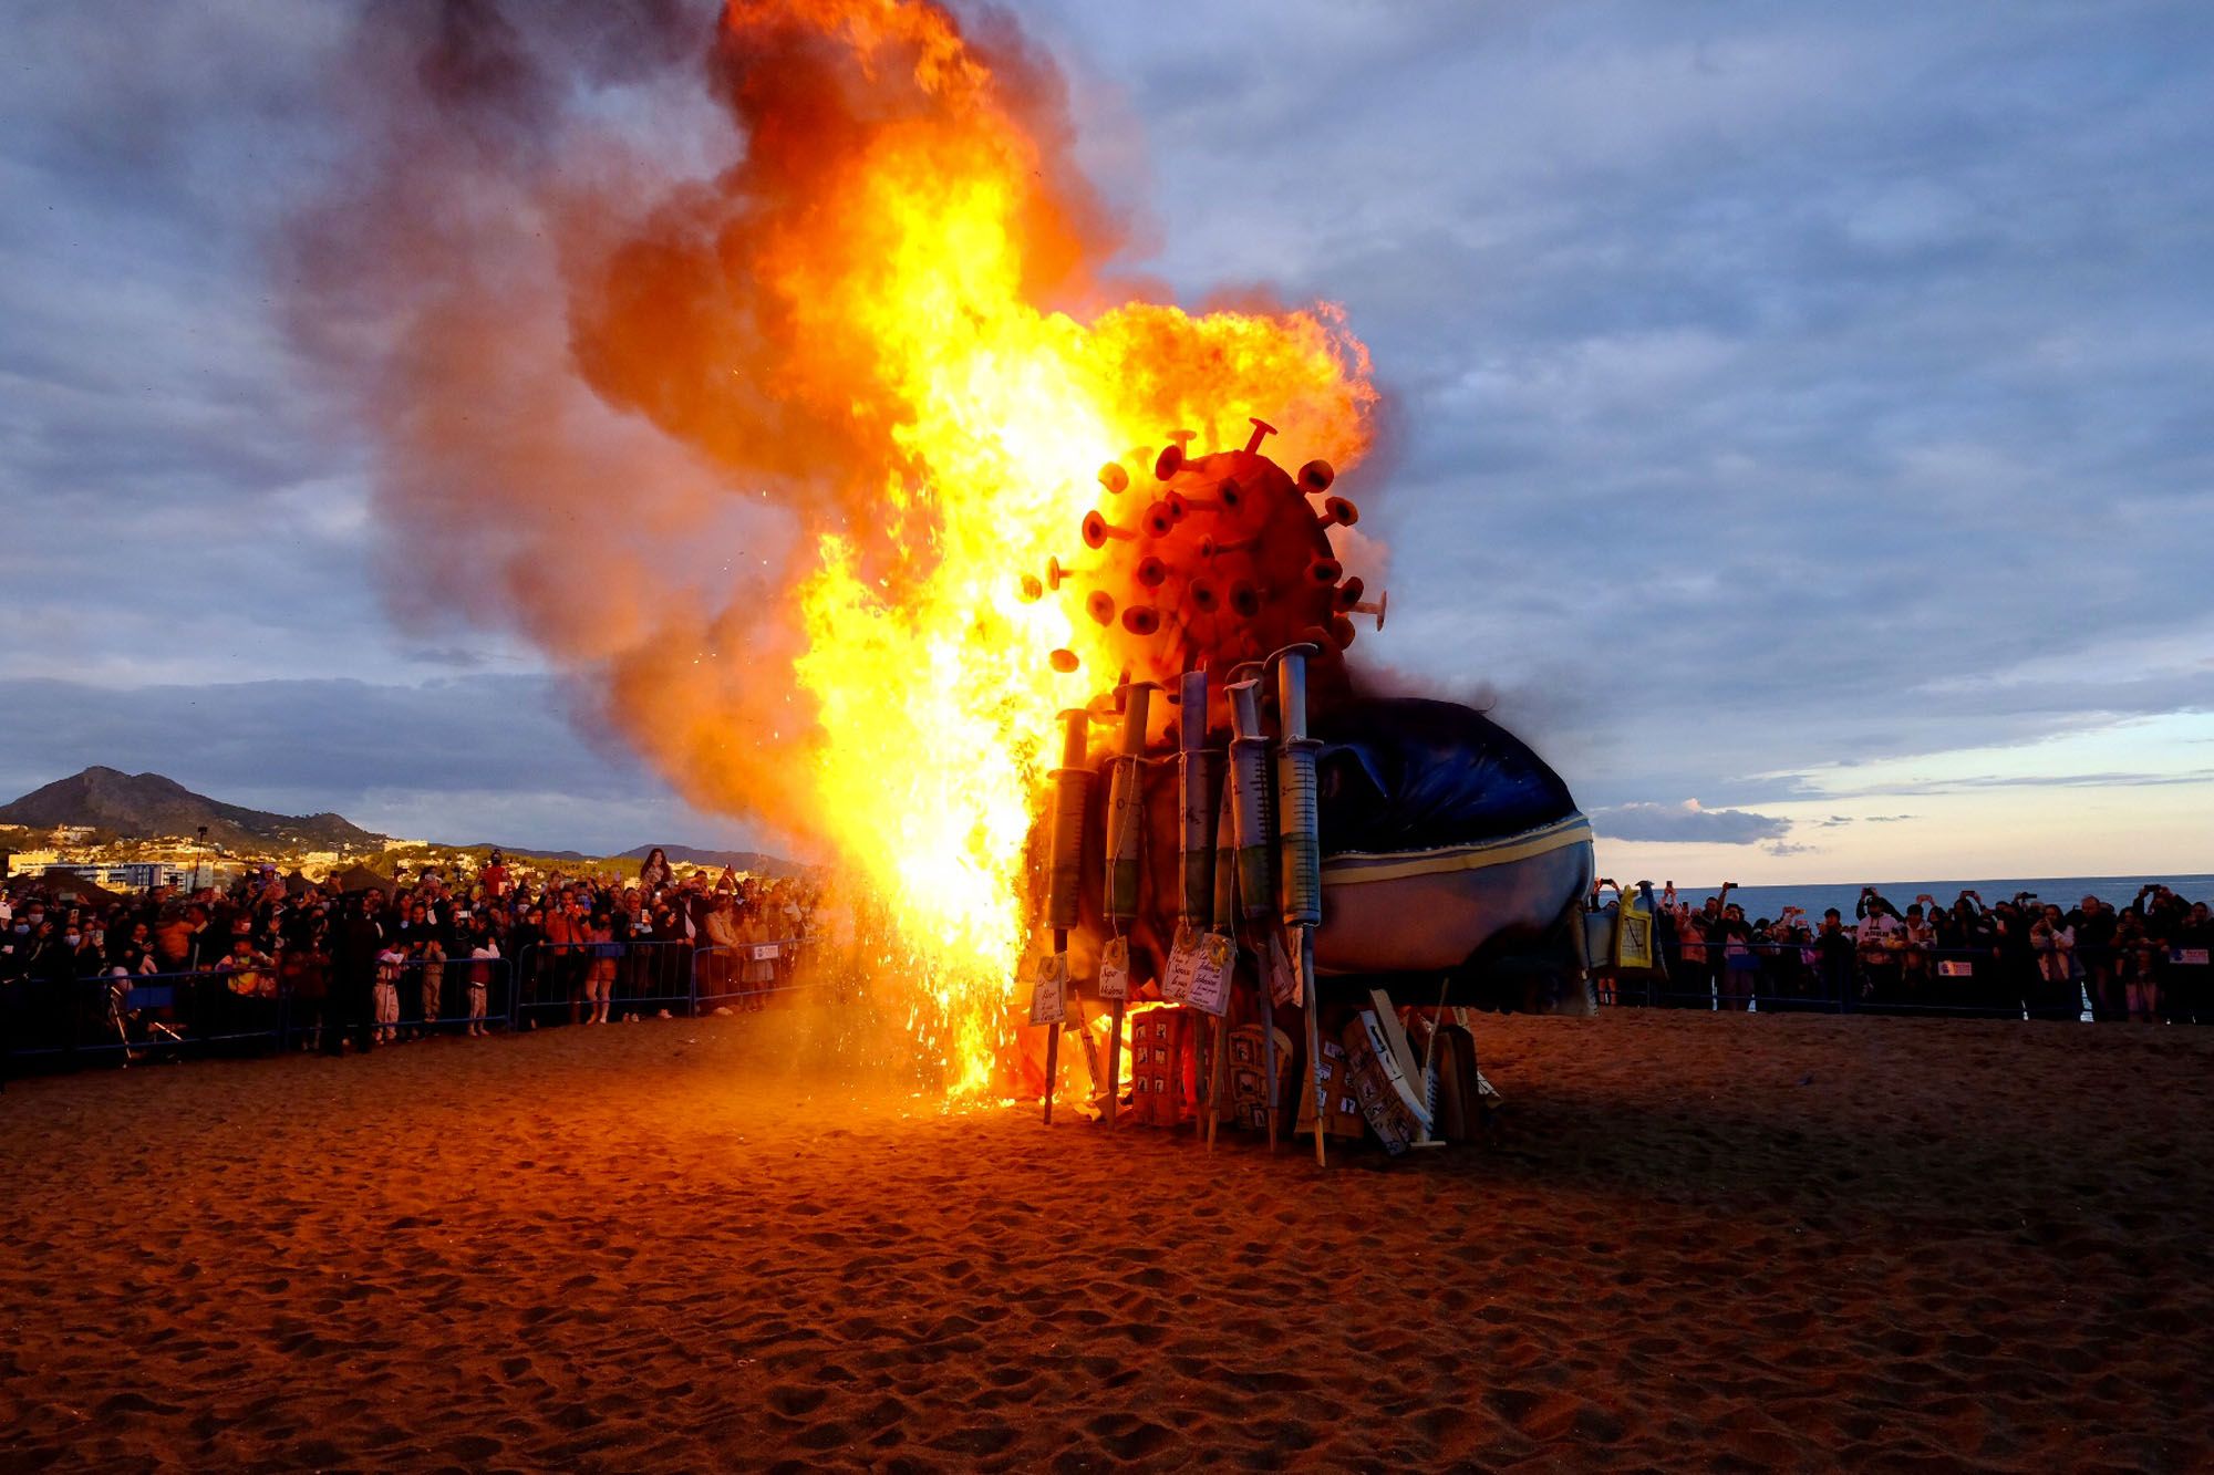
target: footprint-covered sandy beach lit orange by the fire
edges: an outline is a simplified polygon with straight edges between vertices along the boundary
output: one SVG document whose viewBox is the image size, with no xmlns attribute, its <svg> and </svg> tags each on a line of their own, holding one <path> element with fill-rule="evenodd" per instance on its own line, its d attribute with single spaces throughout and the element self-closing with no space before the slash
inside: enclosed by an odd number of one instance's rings
<svg viewBox="0 0 2214 1475">
<path fill-rule="evenodd" d="M 13 1081 L 7 1468 L 2214 1459 L 2214 1032 L 1492 1019 L 1483 1147 L 948 1116 L 801 1012 Z"/>
</svg>

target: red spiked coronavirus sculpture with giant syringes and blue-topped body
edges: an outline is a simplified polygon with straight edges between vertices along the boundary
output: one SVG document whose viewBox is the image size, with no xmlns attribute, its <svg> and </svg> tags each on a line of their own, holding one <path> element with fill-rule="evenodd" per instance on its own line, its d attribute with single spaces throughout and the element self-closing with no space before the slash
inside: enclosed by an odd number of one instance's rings
<svg viewBox="0 0 2214 1475">
<path fill-rule="evenodd" d="M 1080 551 L 1023 580 L 1125 662 L 1063 713 L 1041 833 L 1047 1118 L 1074 1032 L 1107 1121 L 1444 1141 L 1486 1090 L 1455 1010 L 1587 1008 L 1590 824 L 1486 715 L 1364 693 L 1386 598 L 1331 543 L 1359 512 L 1269 434 L 1107 463 Z"/>
</svg>

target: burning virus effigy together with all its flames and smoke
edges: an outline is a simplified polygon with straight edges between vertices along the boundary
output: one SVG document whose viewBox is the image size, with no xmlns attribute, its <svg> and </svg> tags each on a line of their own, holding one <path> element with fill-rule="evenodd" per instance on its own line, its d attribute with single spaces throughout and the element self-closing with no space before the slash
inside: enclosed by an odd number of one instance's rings
<svg viewBox="0 0 2214 1475">
<path fill-rule="evenodd" d="M 292 230 L 288 321 L 370 436 L 396 616 L 525 640 L 693 808 L 835 868 L 888 919 L 868 1008 L 948 1101 L 1054 1092 L 1092 1050 L 1032 992 L 1120 988 L 1092 1110 L 1142 1081 L 1147 1118 L 1204 1090 L 1289 1132 L 1302 1054 L 1408 1074 L 1397 1008 L 1568 977 L 1568 791 L 1346 660 L 1386 620 L 1337 489 L 1368 350 L 1326 301 L 1127 277 L 1007 18 L 376 9 L 330 106 L 356 157 Z M 1379 992 L 1342 1019 L 1337 981 Z"/>
</svg>

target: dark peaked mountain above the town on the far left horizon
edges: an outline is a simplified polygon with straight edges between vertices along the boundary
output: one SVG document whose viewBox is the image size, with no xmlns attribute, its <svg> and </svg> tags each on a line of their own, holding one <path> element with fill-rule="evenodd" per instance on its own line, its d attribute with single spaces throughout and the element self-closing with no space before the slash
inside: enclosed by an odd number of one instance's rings
<svg viewBox="0 0 2214 1475">
<path fill-rule="evenodd" d="M 343 815 L 275 815 L 266 808 L 224 804 L 159 773 L 122 773 L 93 766 L 33 788 L 0 806 L 0 824 L 33 831 L 91 826 L 126 839 L 190 837 L 208 826 L 208 839 L 226 850 L 283 846 L 297 850 L 374 848 L 385 835 L 365 831 Z"/>
</svg>

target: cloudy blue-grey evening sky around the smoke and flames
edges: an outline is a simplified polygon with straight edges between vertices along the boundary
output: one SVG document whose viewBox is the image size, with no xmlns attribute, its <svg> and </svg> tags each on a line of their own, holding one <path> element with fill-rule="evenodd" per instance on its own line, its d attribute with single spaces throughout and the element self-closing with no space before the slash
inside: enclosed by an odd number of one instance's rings
<svg viewBox="0 0 2214 1475">
<path fill-rule="evenodd" d="M 1014 9 L 1134 270 L 1346 306 L 1359 653 L 1492 700 L 1610 870 L 2214 870 L 2214 9 Z M 0 791 L 773 844 L 374 582 L 270 283 L 352 27 L 9 7 Z"/>
</svg>

